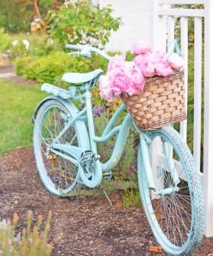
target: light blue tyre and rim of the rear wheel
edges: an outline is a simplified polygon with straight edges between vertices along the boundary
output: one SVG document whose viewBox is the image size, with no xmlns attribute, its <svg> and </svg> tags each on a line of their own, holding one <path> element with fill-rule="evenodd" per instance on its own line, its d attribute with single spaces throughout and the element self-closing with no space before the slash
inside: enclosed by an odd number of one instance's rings
<svg viewBox="0 0 213 256">
<path fill-rule="evenodd" d="M 57 99 L 49 99 L 46 102 L 43 103 L 43 105 L 39 108 L 38 112 L 36 113 L 36 117 L 34 120 L 34 157 L 35 157 L 35 162 L 36 162 L 36 166 L 37 166 L 37 170 L 39 172 L 39 175 L 41 177 L 41 182 L 43 183 L 44 187 L 53 195 L 57 195 L 57 196 L 66 196 L 67 194 L 71 193 L 71 191 L 73 189 L 76 188 L 77 184 L 81 184 L 80 181 L 80 177 L 79 177 L 79 173 L 78 173 L 78 167 L 74 166 L 72 163 L 68 162 L 68 160 L 64 159 L 62 160 L 62 157 L 53 155 L 53 158 L 48 157 L 49 159 L 44 159 L 44 156 L 42 156 L 43 154 L 46 154 L 47 152 L 42 152 L 41 150 L 41 140 L 44 135 L 42 129 L 44 128 L 44 121 L 45 118 L 47 117 L 47 115 L 52 111 L 52 115 L 53 115 L 53 109 L 55 110 L 54 114 L 54 122 L 55 122 L 55 129 L 58 129 L 58 131 L 53 131 L 51 130 L 50 133 L 53 135 L 53 138 L 55 138 L 57 135 L 59 134 L 59 132 L 63 129 L 65 123 L 66 123 L 66 118 L 67 117 L 73 117 L 74 116 L 74 112 L 72 112 L 72 109 L 69 107 L 69 103 L 67 104 L 63 104 L 63 102 L 61 102 L 60 100 Z M 58 120 L 58 123 L 56 122 L 56 110 L 58 110 L 59 117 L 60 117 L 60 122 Z M 50 113 L 51 115 L 51 113 Z M 64 115 L 64 116 L 63 116 Z M 51 117 L 50 117 L 51 118 Z M 53 120 L 52 120 L 53 121 Z M 61 129 L 60 129 L 60 125 L 59 123 L 62 125 Z M 57 126 L 58 124 L 58 126 Z M 47 123 L 46 123 L 47 125 Z M 51 123 L 50 123 L 50 127 L 51 129 L 53 128 Z M 84 131 L 84 132 L 83 132 Z M 73 136 L 71 138 L 73 132 Z M 82 136 L 82 133 L 84 134 L 84 136 Z M 62 143 L 66 143 L 68 142 L 68 139 L 70 139 L 70 144 L 72 142 L 72 139 L 74 137 L 76 137 L 75 139 L 75 145 L 78 147 L 83 147 L 83 148 L 87 148 L 88 143 L 87 140 L 85 139 L 85 136 L 87 134 L 85 125 L 82 124 L 81 121 L 77 121 L 74 123 L 74 125 L 72 125 L 72 127 L 66 132 L 66 134 L 61 138 L 61 140 L 64 141 L 60 141 Z M 53 139 L 51 138 L 51 139 Z M 74 144 L 72 142 L 72 144 Z M 50 159 L 51 158 L 51 159 Z M 54 180 L 52 179 L 52 177 L 50 176 L 50 168 L 48 168 L 47 170 L 47 166 L 44 163 L 44 160 L 49 162 L 48 164 L 51 164 L 51 168 L 54 169 L 54 174 L 53 175 L 57 175 L 57 179 L 55 178 Z M 49 160 L 49 161 L 48 161 Z M 50 163 L 50 161 L 52 161 Z M 54 163 L 53 163 L 54 162 Z M 62 166 L 63 164 L 63 166 Z M 58 167 L 64 168 L 62 171 L 56 171 Z M 71 169 L 74 169 L 75 173 L 74 176 L 71 173 Z M 56 172 L 56 174 L 55 174 Z M 63 172 L 64 174 L 66 173 L 66 176 L 62 175 Z M 72 177 L 71 177 L 72 175 Z M 62 179 L 63 178 L 63 179 Z M 68 183 L 68 185 L 66 187 L 62 187 L 64 185 L 62 185 L 61 181 L 64 181 L 65 183 Z M 57 182 L 57 184 L 56 184 Z"/>
</svg>

